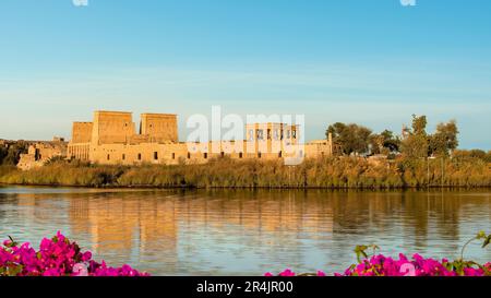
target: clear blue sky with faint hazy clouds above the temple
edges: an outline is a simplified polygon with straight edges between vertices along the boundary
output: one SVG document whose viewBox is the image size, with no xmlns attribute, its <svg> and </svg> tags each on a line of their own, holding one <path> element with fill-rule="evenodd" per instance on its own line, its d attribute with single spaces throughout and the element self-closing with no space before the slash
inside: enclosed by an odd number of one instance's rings
<svg viewBox="0 0 491 298">
<path fill-rule="evenodd" d="M 491 1 L 0 1 L 0 139 L 70 136 L 96 109 L 304 114 L 400 131 L 456 119 L 491 150 Z M 185 139 L 185 135 L 181 135 Z"/>
</svg>

